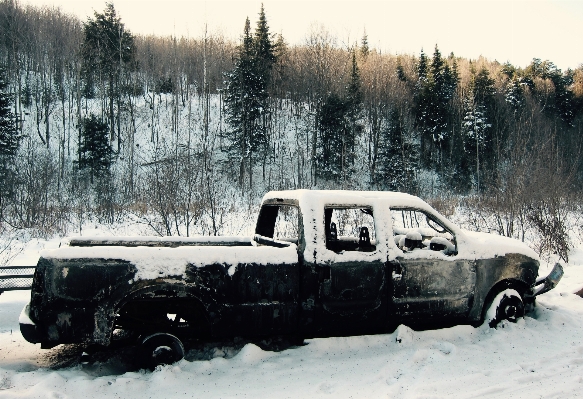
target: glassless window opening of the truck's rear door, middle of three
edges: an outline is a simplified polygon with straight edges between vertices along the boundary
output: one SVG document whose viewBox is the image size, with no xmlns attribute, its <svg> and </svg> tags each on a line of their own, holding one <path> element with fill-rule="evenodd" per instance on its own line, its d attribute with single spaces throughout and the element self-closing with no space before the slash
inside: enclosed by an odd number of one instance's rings
<svg viewBox="0 0 583 399">
<path fill-rule="evenodd" d="M 334 252 L 372 252 L 376 249 L 370 208 L 325 208 L 326 248 Z"/>
</svg>

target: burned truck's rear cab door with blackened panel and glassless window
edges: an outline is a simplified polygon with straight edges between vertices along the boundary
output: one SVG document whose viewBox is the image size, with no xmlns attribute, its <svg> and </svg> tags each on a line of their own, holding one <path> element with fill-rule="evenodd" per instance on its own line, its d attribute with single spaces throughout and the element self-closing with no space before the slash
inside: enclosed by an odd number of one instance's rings
<svg viewBox="0 0 583 399">
<path fill-rule="evenodd" d="M 312 265 L 318 295 L 316 335 L 382 331 L 387 315 L 386 251 L 377 244 L 370 207 L 326 207 L 326 248 Z"/>
</svg>

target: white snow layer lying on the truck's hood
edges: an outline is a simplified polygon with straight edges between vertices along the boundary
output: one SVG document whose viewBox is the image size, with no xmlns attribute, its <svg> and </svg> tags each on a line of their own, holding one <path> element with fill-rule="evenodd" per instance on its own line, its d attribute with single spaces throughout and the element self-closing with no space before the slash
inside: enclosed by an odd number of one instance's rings
<svg viewBox="0 0 583 399">
<path fill-rule="evenodd" d="M 532 248 L 513 238 L 469 230 L 461 230 L 456 238 L 460 258 L 486 259 L 506 254 L 522 254 L 539 259 Z"/>
</svg>

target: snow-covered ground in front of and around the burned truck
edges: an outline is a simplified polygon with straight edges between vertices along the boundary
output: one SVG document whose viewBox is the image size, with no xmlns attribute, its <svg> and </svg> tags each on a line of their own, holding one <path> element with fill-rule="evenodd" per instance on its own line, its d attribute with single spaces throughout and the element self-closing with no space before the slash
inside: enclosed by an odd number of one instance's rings
<svg viewBox="0 0 583 399">
<path fill-rule="evenodd" d="M 31 241 L 12 264 L 30 264 L 58 240 Z M 541 274 L 550 271 L 546 263 Z M 80 348 L 41 350 L 19 332 L 30 293 L 0 295 L 0 398 L 440 398 L 583 396 L 583 250 L 559 286 L 518 323 L 456 326 L 306 340 L 273 352 L 218 345 L 153 372 L 115 355 L 82 365 Z M 242 346 L 242 348 L 241 348 Z M 206 360 L 194 360 L 203 358 Z M 129 371 L 128 371 L 129 370 Z"/>
</svg>

